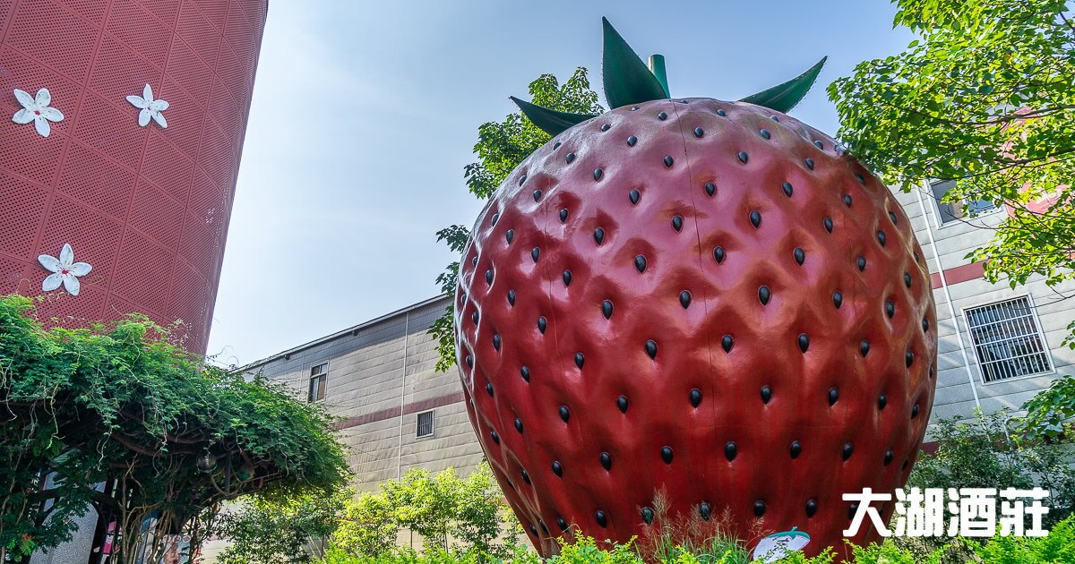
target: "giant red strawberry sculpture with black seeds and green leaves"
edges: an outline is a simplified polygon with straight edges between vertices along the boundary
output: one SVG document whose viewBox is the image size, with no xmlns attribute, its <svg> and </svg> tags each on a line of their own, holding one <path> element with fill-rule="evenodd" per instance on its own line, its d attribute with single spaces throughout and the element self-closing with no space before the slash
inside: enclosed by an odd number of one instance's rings
<svg viewBox="0 0 1075 564">
<path fill-rule="evenodd" d="M 608 113 L 517 100 L 555 136 L 478 217 L 456 332 L 471 421 L 544 553 L 641 534 L 660 490 L 671 514 L 845 550 L 842 494 L 906 481 L 935 382 L 929 273 L 888 189 L 785 115 L 820 66 L 670 99 L 605 21 Z"/>
</svg>

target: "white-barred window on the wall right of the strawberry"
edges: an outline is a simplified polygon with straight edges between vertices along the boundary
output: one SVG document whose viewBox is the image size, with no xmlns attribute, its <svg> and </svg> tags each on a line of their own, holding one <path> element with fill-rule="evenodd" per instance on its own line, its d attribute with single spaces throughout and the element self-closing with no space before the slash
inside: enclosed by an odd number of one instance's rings
<svg viewBox="0 0 1075 564">
<path fill-rule="evenodd" d="M 974 307 L 964 315 L 986 382 L 1052 371 L 1029 298 Z"/>
</svg>

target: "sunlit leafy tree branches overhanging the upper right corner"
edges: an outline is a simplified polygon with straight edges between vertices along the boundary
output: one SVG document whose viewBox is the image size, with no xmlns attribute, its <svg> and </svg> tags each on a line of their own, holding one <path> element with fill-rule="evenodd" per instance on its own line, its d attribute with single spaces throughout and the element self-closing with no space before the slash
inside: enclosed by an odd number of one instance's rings
<svg viewBox="0 0 1075 564">
<path fill-rule="evenodd" d="M 1064 0 L 897 0 L 920 39 L 829 87 L 840 138 L 890 183 L 1010 217 L 969 258 L 991 281 L 1075 279 L 1075 25 Z M 964 205 L 964 211 L 969 207 Z M 1070 329 L 1075 330 L 1075 324 Z M 1069 338 L 1075 347 L 1075 342 Z"/>
</svg>

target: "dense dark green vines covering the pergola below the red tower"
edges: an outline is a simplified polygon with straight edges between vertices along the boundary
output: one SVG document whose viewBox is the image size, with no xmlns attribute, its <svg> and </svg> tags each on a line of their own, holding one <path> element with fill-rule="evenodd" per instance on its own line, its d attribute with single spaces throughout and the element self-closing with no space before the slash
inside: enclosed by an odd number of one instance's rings
<svg viewBox="0 0 1075 564">
<path fill-rule="evenodd" d="M 0 481 L 11 485 L 0 492 L 0 551 L 55 546 L 92 507 L 117 521 L 123 564 L 150 515 L 159 515 L 158 539 L 186 531 L 200 540 L 224 501 L 344 480 L 331 420 L 286 388 L 205 367 L 144 317 L 43 330 L 31 312 L 26 298 L 0 298 L 0 457 L 9 461 Z M 198 467 L 201 458 L 210 467 Z"/>
</svg>

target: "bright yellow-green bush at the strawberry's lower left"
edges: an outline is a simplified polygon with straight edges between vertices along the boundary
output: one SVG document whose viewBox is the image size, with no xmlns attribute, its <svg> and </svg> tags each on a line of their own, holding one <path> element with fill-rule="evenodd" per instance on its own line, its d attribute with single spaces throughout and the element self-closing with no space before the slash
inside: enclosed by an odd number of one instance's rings
<svg viewBox="0 0 1075 564">
<path fill-rule="evenodd" d="M 377 492 L 345 503 L 331 545 L 338 553 L 381 558 L 396 551 L 398 533 L 408 529 L 422 536 L 427 551 L 502 552 L 504 547 L 494 546 L 502 508 L 500 490 L 486 464 L 467 478 L 454 468 L 436 474 L 415 468 L 400 480 L 382 483 Z"/>
</svg>

